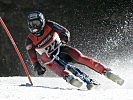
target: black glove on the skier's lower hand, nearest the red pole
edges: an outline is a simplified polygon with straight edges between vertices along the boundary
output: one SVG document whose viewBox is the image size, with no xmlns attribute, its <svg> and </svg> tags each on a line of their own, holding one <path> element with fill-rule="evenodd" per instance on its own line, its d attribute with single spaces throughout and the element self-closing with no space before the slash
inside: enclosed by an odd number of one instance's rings
<svg viewBox="0 0 133 100">
<path fill-rule="evenodd" d="M 46 71 L 46 68 L 42 67 L 39 62 L 35 62 L 33 66 L 34 66 L 34 71 L 37 71 L 38 75 L 43 75 Z"/>
</svg>

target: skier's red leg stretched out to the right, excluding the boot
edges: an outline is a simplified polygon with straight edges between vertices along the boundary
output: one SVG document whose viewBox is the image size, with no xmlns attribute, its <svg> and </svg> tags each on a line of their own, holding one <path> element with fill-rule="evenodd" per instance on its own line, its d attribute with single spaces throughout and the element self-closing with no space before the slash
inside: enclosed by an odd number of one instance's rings
<svg viewBox="0 0 133 100">
<path fill-rule="evenodd" d="M 61 47 L 61 52 L 68 54 L 69 56 L 71 56 L 78 63 L 87 65 L 89 68 L 92 68 L 93 70 L 95 70 L 99 73 L 103 73 L 106 70 L 104 65 L 102 65 L 98 61 L 96 61 L 96 60 L 94 60 L 94 59 L 92 59 L 88 56 L 83 55 L 76 48 L 72 48 L 70 46 L 62 46 Z"/>
</svg>

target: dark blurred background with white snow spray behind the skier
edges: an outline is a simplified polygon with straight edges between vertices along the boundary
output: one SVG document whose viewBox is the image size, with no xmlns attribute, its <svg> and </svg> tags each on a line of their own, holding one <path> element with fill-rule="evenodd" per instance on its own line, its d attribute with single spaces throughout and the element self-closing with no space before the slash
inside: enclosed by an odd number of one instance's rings
<svg viewBox="0 0 133 100">
<path fill-rule="evenodd" d="M 0 0 L 7 25 L 32 76 L 25 39 L 27 15 L 38 10 L 71 32 L 69 45 L 109 67 L 133 61 L 133 0 Z M 113 65 L 115 64 L 115 65 Z M 86 69 L 85 69 L 86 70 Z M 0 25 L 0 76 L 25 76 L 22 64 Z M 46 76 L 55 76 L 49 70 Z"/>
</svg>

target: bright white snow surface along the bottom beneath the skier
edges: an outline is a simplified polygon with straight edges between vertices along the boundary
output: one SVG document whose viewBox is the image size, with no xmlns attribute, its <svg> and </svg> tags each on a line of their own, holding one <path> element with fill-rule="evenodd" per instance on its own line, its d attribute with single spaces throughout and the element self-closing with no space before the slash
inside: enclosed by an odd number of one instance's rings
<svg viewBox="0 0 133 100">
<path fill-rule="evenodd" d="M 87 90 L 85 86 L 77 89 L 58 77 L 31 79 L 33 86 L 28 85 L 27 77 L 1 77 L 0 100 L 133 100 L 133 80 L 119 86 L 101 77 L 99 87 Z"/>
</svg>

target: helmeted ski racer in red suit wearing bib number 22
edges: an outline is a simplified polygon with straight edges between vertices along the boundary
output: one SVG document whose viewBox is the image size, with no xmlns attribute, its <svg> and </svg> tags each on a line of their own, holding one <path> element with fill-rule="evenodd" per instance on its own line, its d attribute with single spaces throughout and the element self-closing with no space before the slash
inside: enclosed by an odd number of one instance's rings
<svg viewBox="0 0 133 100">
<path fill-rule="evenodd" d="M 64 61 L 86 65 L 100 74 L 107 71 L 103 64 L 83 55 L 76 48 L 68 46 L 70 32 L 56 22 L 46 20 L 41 12 L 33 11 L 29 13 L 27 21 L 30 34 L 26 39 L 26 50 L 38 75 L 43 75 L 46 71 L 46 68 L 39 62 L 40 58 L 47 68 L 73 85 L 72 81 L 75 78 L 65 71 L 57 61 L 50 62 L 60 43 L 62 45 L 58 56 Z"/>
</svg>

